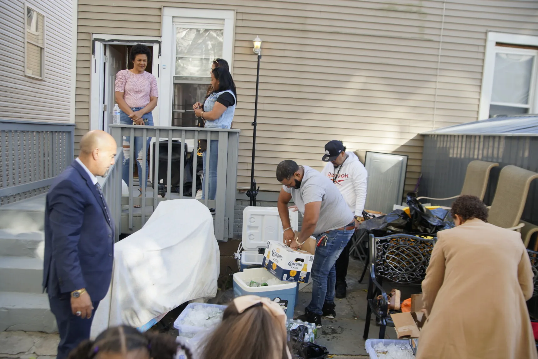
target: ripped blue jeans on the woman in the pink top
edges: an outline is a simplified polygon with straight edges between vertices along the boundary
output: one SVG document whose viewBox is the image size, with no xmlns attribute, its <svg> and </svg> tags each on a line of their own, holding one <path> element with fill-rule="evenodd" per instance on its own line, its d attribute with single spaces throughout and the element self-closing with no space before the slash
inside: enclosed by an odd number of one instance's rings
<svg viewBox="0 0 538 359">
<path fill-rule="evenodd" d="M 132 107 L 131 110 L 138 111 L 143 109 L 143 107 Z M 151 112 L 148 112 L 144 116 L 145 126 L 153 126 L 153 115 Z M 119 120 L 121 124 L 132 125 L 133 120 L 123 111 L 119 111 Z M 129 175 L 129 163 L 131 161 L 131 149 L 130 149 L 131 136 L 123 136 L 123 168 L 122 168 L 122 178 L 125 183 L 131 187 L 130 175 Z M 146 151 L 150 148 L 151 137 L 146 139 Z M 127 147 L 125 147 L 127 146 Z M 146 188 L 147 186 L 147 176 L 150 173 L 150 166 L 146 163 L 146 175 L 142 174 L 142 162 L 143 162 L 143 151 L 144 150 L 144 138 L 143 137 L 134 137 L 134 153 L 136 153 L 136 164 L 138 166 L 138 182 L 140 188 Z M 146 156 L 147 160 L 147 156 Z M 131 173 L 132 175 L 132 173 Z"/>
</svg>

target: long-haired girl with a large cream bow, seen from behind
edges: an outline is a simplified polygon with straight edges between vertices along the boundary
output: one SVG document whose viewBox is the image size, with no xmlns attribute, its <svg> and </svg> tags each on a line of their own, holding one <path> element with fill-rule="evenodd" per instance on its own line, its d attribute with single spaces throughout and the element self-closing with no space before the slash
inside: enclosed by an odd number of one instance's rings
<svg viewBox="0 0 538 359">
<path fill-rule="evenodd" d="M 286 313 L 269 298 L 244 295 L 224 311 L 201 359 L 291 359 Z"/>
</svg>

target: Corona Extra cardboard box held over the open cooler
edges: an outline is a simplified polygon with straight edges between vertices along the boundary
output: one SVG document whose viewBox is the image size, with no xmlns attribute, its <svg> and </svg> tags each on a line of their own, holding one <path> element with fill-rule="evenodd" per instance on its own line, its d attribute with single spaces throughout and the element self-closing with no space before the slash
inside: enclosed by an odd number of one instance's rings
<svg viewBox="0 0 538 359">
<path fill-rule="evenodd" d="M 280 280 L 307 283 L 314 262 L 312 247 L 316 247 L 313 238 L 307 241 L 310 242 L 302 245 L 303 250 L 293 250 L 280 241 L 268 241 L 262 266 Z"/>
</svg>

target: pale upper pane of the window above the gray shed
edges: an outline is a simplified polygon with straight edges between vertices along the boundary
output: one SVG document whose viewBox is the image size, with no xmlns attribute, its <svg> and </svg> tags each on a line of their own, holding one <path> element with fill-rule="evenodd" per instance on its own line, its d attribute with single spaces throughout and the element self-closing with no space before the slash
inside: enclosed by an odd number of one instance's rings
<svg viewBox="0 0 538 359">
<path fill-rule="evenodd" d="M 529 103 L 533 55 L 497 53 L 491 102 Z"/>
</svg>

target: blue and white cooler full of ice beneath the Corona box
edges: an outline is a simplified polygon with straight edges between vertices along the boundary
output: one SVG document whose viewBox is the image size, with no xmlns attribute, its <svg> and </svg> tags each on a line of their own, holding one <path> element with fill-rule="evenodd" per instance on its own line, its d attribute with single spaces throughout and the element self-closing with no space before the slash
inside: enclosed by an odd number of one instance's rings
<svg viewBox="0 0 538 359">
<path fill-rule="evenodd" d="M 293 319 L 293 311 L 295 310 L 295 299 L 299 292 L 297 283 L 291 281 L 280 280 L 281 284 L 268 285 L 265 287 L 249 287 L 251 280 L 257 282 L 274 280 L 273 274 L 267 272 L 265 268 L 245 269 L 243 272 L 233 274 L 233 296 L 241 297 L 242 295 L 258 295 L 259 297 L 267 297 L 275 302 L 278 302 L 282 309 L 286 312 L 289 319 Z"/>
</svg>

